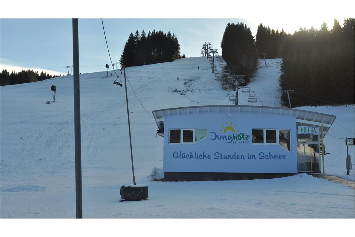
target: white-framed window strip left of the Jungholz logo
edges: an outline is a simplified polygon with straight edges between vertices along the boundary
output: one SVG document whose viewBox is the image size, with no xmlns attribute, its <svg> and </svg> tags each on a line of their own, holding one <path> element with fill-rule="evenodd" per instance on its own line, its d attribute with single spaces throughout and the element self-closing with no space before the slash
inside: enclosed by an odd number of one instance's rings
<svg viewBox="0 0 355 237">
<path fill-rule="evenodd" d="M 207 138 L 207 128 L 169 129 L 169 144 L 196 144 Z"/>
</svg>

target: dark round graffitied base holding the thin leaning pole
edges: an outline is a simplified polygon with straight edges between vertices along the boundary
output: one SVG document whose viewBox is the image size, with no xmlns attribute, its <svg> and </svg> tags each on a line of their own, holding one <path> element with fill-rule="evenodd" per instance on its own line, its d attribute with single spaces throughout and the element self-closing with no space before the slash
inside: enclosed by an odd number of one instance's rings
<svg viewBox="0 0 355 237">
<path fill-rule="evenodd" d="M 141 201 L 148 199 L 147 185 L 122 185 L 120 201 Z"/>
</svg>

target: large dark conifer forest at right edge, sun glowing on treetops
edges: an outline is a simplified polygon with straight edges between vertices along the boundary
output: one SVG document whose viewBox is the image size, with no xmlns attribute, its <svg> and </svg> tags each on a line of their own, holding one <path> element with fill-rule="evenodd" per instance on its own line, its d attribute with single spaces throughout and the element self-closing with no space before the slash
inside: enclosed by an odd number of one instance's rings
<svg viewBox="0 0 355 237">
<path fill-rule="evenodd" d="M 300 28 L 283 44 L 280 86 L 288 106 L 354 104 L 354 19 L 343 26 L 334 19 L 332 29 Z"/>
</svg>

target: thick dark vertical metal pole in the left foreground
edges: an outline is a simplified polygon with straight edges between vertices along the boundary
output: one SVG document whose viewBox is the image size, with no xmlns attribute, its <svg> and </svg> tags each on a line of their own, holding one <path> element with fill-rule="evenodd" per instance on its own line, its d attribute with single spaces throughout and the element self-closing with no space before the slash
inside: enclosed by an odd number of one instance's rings
<svg viewBox="0 0 355 237">
<path fill-rule="evenodd" d="M 74 128 L 75 128 L 75 191 L 76 218 L 83 218 L 81 189 L 81 131 L 80 131 L 80 81 L 79 81 L 79 31 L 78 19 L 73 19 L 74 66 Z"/>
</svg>

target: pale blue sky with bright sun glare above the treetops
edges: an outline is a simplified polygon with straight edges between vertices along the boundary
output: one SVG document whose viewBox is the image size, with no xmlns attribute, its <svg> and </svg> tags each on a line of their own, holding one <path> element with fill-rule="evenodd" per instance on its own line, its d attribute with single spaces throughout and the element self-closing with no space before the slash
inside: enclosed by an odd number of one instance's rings
<svg viewBox="0 0 355 237">
<path fill-rule="evenodd" d="M 323 21 L 332 28 L 333 19 L 342 25 L 346 16 L 283 18 L 263 17 L 261 14 L 249 18 L 110 18 L 103 19 L 107 42 L 113 63 L 119 61 L 129 34 L 144 29 L 170 31 L 178 37 L 181 55 L 200 56 L 203 42 L 209 41 L 218 49 L 226 24 L 244 22 L 256 35 L 260 23 L 271 28 L 293 33 L 300 27 L 320 28 Z M 268 14 L 266 14 L 268 15 Z M 100 18 L 79 18 L 80 72 L 106 71 L 105 64 L 112 69 L 105 43 Z M 67 74 L 66 66 L 72 63 L 72 20 L 71 18 L 1 18 L 0 19 L 0 69 L 18 71 L 33 69 L 50 74 Z M 119 66 L 118 66 L 119 67 Z M 69 69 L 70 71 L 70 69 Z"/>
</svg>

